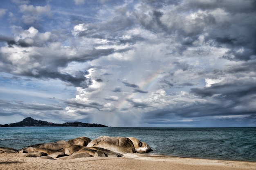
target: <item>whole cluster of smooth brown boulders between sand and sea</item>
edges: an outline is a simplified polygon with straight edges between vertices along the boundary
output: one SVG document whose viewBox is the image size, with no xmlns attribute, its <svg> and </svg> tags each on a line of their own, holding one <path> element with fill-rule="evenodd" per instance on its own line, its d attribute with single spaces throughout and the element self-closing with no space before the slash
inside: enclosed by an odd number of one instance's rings
<svg viewBox="0 0 256 170">
<path fill-rule="evenodd" d="M 0 147 L 0 153 L 21 153 L 24 157 L 75 159 L 81 157 L 122 157 L 126 153 L 147 153 L 152 149 L 134 137 L 101 136 L 91 141 L 78 137 L 68 141 L 27 146 L 21 150 Z"/>
</svg>

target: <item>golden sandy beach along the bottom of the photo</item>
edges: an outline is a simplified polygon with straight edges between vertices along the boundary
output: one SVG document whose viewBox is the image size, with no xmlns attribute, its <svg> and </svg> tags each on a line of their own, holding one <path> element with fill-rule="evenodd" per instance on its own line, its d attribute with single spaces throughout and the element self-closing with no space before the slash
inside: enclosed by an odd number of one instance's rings
<svg viewBox="0 0 256 170">
<path fill-rule="evenodd" d="M 0 170 L 256 170 L 256 162 L 222 161 L 125 154 L 123 157 L 87 157 L 51 160 L 0 154 Z"/>
</svg>

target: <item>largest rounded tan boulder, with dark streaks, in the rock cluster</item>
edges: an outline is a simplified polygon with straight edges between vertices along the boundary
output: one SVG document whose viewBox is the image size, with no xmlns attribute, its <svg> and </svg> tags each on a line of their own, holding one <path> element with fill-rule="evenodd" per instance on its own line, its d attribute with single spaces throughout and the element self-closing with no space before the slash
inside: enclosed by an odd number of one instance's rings
<svg viewBox="0 0 256 170">
<path fill-rule="evenodd" d="M 122 154 L 135 153 L 132 141 L 127 137 L 101 136 L 92 140 L 87 147 L 104 148 Z"/>
</svg>

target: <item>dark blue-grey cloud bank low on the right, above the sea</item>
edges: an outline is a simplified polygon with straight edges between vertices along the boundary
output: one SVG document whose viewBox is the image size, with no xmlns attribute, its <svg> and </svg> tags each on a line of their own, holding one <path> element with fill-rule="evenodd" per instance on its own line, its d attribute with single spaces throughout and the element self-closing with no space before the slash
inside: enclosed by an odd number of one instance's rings
<svg viewBox="0 0 256 170">
<path fill-rule="evenodd" d="M 191 93 L 202 97 L 202 99 L 207 99 L 209 102 L 182 108 L 182 112 L 176 110 L 175 112 L 182 117 L 255 113 L 252 103 L 255 101 L 253 96 L 256 95 L 256 85 L 252 82 L 212 84 L 211 87 L 191 88 Z"/>
</svg>

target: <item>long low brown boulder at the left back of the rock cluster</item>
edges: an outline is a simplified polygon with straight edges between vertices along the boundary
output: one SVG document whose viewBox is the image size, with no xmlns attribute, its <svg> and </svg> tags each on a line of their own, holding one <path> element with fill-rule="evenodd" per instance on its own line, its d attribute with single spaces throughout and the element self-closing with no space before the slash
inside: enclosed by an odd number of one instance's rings
<svg viewBox="0 0 256 170">
<path fill-rule="evenodd" d="M 47 144 L 36 144 L 27 146 L 25 148 L 22 148 L 23 152 L 44 152 L 47 155 L 50 155 L 54 152 L 59 152 L 65 150 L 65 148 L 72 146 L 72 144 L 68 143 L 67 141 L 57 141 L 53 143 L 47 143 Z"/>
</svg>

